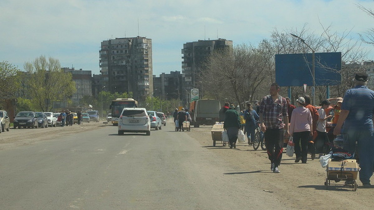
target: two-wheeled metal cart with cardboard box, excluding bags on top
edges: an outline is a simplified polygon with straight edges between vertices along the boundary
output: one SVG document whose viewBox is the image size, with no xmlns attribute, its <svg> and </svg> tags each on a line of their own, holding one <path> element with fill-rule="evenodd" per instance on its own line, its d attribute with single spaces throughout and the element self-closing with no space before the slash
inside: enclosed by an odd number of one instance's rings
<svg viewBox="0 0 374 210">
<path fill-rule="evenodd" d="M 326 189 L 332 185 L 331 181 L 335 181 L 335 185 L 352 186 L 353 191 L 357 190 L 357 173 L 358 164 L 356 160 L 347 159 L 342 161 L 330 161 L 327 164 L 327 177 L 325 180 Z M 349 181 L 349 184 L 336 184 L 339 181 Z"/>
</svg>

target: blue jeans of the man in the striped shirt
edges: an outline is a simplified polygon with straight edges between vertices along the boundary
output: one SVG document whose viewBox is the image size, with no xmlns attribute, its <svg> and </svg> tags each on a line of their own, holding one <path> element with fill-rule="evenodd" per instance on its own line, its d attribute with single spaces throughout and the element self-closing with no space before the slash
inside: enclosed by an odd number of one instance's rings
<svg viewBox="0 0 374 210">
<path fill-rule="evenodd" d="M 356 150 L 356 141 L 358 148 Z M 360 163 L 360 181 L 363 184 L 370 183 L 370 177 L 374 169 L 374 136 L 373 130 L 347 129 L 344 133 L 343 149 L 350 154 L 357 155 Z"/>
</svg>

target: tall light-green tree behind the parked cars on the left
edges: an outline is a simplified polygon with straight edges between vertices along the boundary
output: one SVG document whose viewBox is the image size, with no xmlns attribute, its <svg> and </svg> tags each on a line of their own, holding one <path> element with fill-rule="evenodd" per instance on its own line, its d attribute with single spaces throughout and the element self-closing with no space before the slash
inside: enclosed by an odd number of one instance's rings
<svg viewBox="0 0 374 210">
<path fill-rule="evenodd" d="M 53 101 L 66 101 L 76 92 L 70 73 L 61 69 L 58 59 L 40 56 L 34 62 L 25 62 L 25 85 L 33 105 L 41 111 L 53 109 Z"/>
</svg>

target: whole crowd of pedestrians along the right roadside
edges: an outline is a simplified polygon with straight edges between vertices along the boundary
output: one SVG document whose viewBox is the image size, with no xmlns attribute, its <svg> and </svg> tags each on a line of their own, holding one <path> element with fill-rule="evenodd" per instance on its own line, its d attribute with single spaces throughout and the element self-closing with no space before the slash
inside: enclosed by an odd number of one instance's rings
<svg viewBox="0 0 374 210">
<path fill-rule="evenodd" d="M 247 103 L 247 109 L 236 111 L 235 105 L 226 102 L 220 109 L 220 121 L 229 136 L 230 148 L 236 148 L 239 129 L 244 129 L 248 144 L 255 139 L 259 126 L 264 132 L 270 169 L 280 173 L 283 148 L 292 138 L 295 163 L 307 163 L 307 155 L 313 160 L 327 154 L 332 148 L 341 146 L 354 157 L 361 168 L 359 179 L 364 187 L 371 187 L 370 177 L 374 172 L 374 91 L 368 89 L 368 75 L 356 73 L 355 87 L 344 97 L 324 99 L 317 109 L 311 97 L 298 97 L 296 106 L 291 100 L 279 95 L 278 84 L 270 86 L 270 95 L 254 106 Z M 344 99 L 344 100 L 343 100 Z M 335 140 L 341 139 L 341 144 Z M 226 146 L 225 143 L 223 146 Z M 350 184 L 350 183 L 346 183 Z"/>
</svg>

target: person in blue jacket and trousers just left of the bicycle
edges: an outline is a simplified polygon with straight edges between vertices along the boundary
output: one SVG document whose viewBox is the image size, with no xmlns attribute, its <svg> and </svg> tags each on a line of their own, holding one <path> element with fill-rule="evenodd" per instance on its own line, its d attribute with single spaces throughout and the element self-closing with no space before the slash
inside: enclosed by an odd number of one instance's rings
<svg viewBox="0 0 374 210">
<path fill-rule="evenodd" d="M 247 103 L 247 109 L 244 111 L 244 119 L 248 144 L 251 145 L 255 140 L 255 130 L 258 127 L 256 121 L 260 120 L 256 110 L 252 108 L 251 103 Z"/>
</svg>

